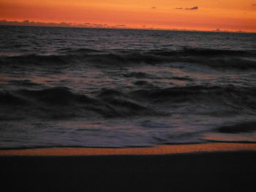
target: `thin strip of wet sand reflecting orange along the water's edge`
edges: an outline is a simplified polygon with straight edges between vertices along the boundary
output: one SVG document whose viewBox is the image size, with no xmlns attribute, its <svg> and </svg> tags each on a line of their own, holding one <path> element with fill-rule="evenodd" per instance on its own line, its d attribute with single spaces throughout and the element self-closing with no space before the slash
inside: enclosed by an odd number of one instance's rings
<svg viewBox="0 0 256 192">
<path fill-rule="evenodd" d="M 154 147 L 42 147 L 29 149 L 4 149 L 3 155 L 39 155 L 39 156 L 70 156 L 70 155 L 167 155 L 180 153 L 206 153 L 227 151 L 255 151 L 256 143 L 211 142 L 203 144 L 156 145 Z"/>
</svg>

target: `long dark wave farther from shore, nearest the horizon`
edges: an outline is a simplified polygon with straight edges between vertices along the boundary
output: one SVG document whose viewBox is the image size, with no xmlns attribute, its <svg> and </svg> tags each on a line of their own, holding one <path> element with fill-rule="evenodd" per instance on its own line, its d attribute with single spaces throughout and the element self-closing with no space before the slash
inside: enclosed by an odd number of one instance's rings
<svg viewBox="0 0 256 192">
<path fill-rule="evenodd" d="M 31 66 L 67 68 L 75 65 L 96 67 L 137 66 L 138 64 L 159 65 L 166 63 L 209 66 L 213 69 L 256 69 L 253 50 L 68 50 L 60 55 L 1 56 L 0 68 L 28 68 Z"/>
</svg>

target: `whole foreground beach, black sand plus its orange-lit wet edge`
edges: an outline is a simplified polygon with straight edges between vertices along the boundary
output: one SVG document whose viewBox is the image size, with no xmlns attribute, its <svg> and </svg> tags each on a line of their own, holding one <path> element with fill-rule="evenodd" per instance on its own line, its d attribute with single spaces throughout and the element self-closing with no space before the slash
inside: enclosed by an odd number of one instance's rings
<svg viewBox="0 0 256 192">
<path fill-rule="evenodd" d="M 202 147 L 204 150 L 198 150 Z M 181 151 L 186 148 L 190 150 Z M 50 150 L 50 154 L 44 150 Z M 97 155 L 86 155 L 81 150 L 99 151 Z M 111 150 L 115 153 L 110 153 Z M 138 151 L 132 153 L 132 150 Z M 127 153 L 124 149 L 90 148 L 34 149 L 30 153 L 0 150 L 1 188 L 7 186 L 4 191 L 256 191 L 255 144 L 176 145 L 160 146 L 158 150 L 159 153 L 156 147 L 127 148 Z"/>
</svg>

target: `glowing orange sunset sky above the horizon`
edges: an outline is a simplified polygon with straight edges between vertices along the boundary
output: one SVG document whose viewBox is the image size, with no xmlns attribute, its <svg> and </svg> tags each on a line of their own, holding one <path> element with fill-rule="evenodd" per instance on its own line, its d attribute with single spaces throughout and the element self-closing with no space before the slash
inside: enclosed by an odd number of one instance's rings
<svg viewBox="0 0 256 192">
<path fill-rule="evenodd" d="M 256 0 L 0 0 L 0 20 L 256 31 Z"/>
</svg>

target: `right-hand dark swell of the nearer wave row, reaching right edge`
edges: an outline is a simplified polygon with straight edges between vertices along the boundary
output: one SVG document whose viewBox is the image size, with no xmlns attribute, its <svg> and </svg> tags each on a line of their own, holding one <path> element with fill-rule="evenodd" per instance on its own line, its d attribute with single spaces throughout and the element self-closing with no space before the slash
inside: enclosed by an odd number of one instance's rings
<svg viewBox="0 0 256 192">
<path fill-rule="evenodd" d="M 148 101 L 157 106 L 184 107 L 195 104 L 203 105 L 212 112 L 219 107 L 223 111 L 218 111 L 218 113 L 222 112 L 226 115 L 256 112 L 255 88 L 188 86 L 140 89 L 132 91 L 130 94 L 140 101 Z M 195 108 L 194 110 L 196 112 L 200 109 Z M 214 115 L 214 113 L 210 115 Z"/>
</svg>

